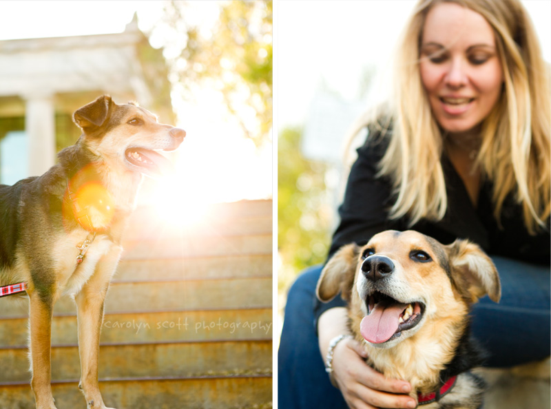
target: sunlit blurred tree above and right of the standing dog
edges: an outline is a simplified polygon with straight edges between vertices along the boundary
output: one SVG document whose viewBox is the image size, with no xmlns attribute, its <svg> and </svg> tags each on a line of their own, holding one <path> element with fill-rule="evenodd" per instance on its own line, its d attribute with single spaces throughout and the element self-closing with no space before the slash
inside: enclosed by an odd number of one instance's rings
<svg viewBox="0 0 551 409">
<path fill-rule="evenodd" d="M 199 14 L 215 15 L 205 30 Z M 271 143 L 272 2 L 166 1 L 162 32 L 169 79 L 191 101 L 198 89 L 216 91 L 228 114 L 257 146 Z"/>
</svg>

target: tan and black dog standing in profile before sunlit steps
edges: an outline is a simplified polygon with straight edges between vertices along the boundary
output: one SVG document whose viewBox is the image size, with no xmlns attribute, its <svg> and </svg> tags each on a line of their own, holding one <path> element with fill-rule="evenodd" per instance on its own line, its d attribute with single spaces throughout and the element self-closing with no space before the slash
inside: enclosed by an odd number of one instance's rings
<svg viewBox="0 0 551 409">
<path fill-rule="evenodd" d="M 88 409 L 105 409 L 98 388 L 99 337 L 105 295 L 123 251 L 121 235 L 143 174 L 160 176 L 169 168 L 156 151 L 174 150 L 185 137 L 183 129 L 110 96 L 77 109 L 73 119 L 83 134 L 59 153 L 57 165 L 42 176 L 0 185 L 0 285 L 27 286 L 37 409 L 55 409 L 52 309 L 65 294 L 77 307 L 79 388 Z"/>
</svg>

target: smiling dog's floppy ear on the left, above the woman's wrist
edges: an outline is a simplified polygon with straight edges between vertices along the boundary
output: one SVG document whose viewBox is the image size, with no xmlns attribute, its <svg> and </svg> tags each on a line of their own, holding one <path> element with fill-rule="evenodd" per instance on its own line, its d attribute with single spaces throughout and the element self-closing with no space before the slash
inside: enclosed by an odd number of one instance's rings
<svg viewBox="0 0 551 409">
<path fill-rule="evenodd" d="M 321 301 L 331 301 L 338 293 L 344 300 L 350 300 L 359 253 L 356 244 L 346 244 L 327 262 L 315 289 Z"/>
</svg>

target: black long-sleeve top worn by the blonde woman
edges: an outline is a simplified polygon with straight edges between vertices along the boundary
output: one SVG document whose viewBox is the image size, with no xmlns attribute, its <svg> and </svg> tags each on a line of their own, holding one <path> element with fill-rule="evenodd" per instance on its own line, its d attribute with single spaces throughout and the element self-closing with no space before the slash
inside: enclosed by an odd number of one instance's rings
<svg viewBox="0 0 551 409">
<path fill-rule="evenodd" d="M 357 149 L 358 157 L 351 168 L 344 201 L 339 208 L 340 224 L 333 235 L 329 257 L 344 244 L 366 244 L 381 231 L 411 229 L 430 235 L 442 244 L 449 244 L 457 238 L 468 239 L 479 244 L 488 255 L 550 264 L 549 220 L 545 231 L 530 235 L 523 223 L 521 205 L 510 195 L 503 204 L 500 228 L 493 214 L 492 183 L 486 181 L 481 185 L 477 206 L 473 205 L 463 180 L 445 155 L 441 159 L 448 195 L 444 218 L 437 222 L 420 220 L 411 227 L 408 227 L 407 220 L 390 220 L 388 209 L 395 200 L 392 183 L 389 178 L 377 178 L 377 164 L 387 146 L 388 140 L 372 134 Z M 316 322 L 324 311 L 344 305 L 341 297 L 326 304 L 316 300 Z"/>
</svg>

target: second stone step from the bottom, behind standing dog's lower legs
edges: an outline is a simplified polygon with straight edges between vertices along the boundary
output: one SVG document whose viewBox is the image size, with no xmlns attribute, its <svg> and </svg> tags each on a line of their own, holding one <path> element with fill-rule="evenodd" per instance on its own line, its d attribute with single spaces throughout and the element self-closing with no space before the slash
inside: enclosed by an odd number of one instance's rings
<svg viewBox="0 0 551 409">
<path fill-rule="evenodd" d="M 271 339 L 157 344 L 103 344 L 102 378 L 271 374 Z M 28 348 L 0 348 L 1 382 L 30 381 Z M 52 379 L 79 379 L 79 348 L 52 346 Z"/>
</svg>

